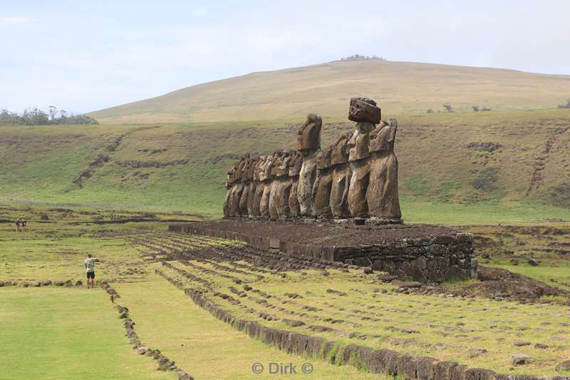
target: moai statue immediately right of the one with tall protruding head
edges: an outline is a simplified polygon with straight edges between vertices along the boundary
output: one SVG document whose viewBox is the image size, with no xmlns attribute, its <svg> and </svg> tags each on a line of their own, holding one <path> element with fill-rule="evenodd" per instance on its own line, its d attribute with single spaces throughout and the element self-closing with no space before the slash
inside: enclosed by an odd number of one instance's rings
<svg viewBox="0 0 570 380">
<path fill-rule="evenodd" d="M 318 153 L 316 160 L 316 179 L 313 185 L 313 208 L 314 217 L 331 217 L 331 187 L 333 185 L 333 165 L 331 155 L 333 145 Z"/>
</svg>

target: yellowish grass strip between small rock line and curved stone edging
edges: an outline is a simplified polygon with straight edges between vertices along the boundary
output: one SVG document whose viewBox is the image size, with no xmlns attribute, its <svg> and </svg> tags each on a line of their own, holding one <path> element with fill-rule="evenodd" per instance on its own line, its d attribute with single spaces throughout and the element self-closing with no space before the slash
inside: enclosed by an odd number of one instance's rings
<svg viewBox="0 0 570 380">
<path fill-rule="evenodd" d="M 252 365 L 270 362 L 297 366 L 299 379 L 393 379 L 366 374 L 351 366 L 333 366 L 314 358 L 286 354 L 250 339 L 195 305 L 165 279 L 150 275 L 147 281 L 117 284 L 120 302 L 132 310 L 136 331 L 150 346 L 176 360 L 195 379 L 274 379 L 276 375 L 252 374 Z M 304 375 L 301 365 L 314 371 Z"/>
</svg>

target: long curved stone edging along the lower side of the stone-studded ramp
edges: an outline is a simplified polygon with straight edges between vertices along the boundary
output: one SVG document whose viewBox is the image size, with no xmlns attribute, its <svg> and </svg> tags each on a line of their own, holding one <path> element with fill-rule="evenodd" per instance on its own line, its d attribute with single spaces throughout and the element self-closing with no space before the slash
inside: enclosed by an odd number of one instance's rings
<svg viewBox="0 0 570 380">
<path fill-rule="evenodd" d="M 412 356 L 390 349 L 327 341 L 322 337 L 272 329 L 257 322 L 235 318 L 230 312 L 214 304 L 201 292 L 185 288 L 180 281 L 167 277 L 160 269 L 155 272 L 182 289 L 192 301 L 217 319 L 226 322 L 265 344 L 275 346 L 289 354 L 307 355 L 331 364 L 352 365 L 371 373 L 385 373 L 413 380 L 570 380 L 570 376 L 533 376 L 497 374 L 490 369 L 468 368 L 456 361 L 438 361 L 427 356 Z"/>
</svg>

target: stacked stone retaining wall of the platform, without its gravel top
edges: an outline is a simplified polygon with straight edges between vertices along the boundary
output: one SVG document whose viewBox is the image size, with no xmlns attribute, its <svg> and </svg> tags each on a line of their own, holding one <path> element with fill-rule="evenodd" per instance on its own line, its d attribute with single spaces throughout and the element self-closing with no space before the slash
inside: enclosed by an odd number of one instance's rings
<svg viewBox="0 0 570 380">
<path fill-rule="evenodd" d="M 170 225 L 169 230 L 184 234 L 239 240 L 259 250 L 279 250 L 286 255 L 312 257 L 313 260 L 371 267 L 403 279 L 413 279 L 424 283 L 477 277 L 477 259 L 472 247 L 473 237 L 471 234 L 460 232 L 380 242 L 373 245 L 338 247 L 304 244 L 276 237 L 262 237 L 217 229 L 209 225 L 204 226 L 200 222 Z"/>
</svg>

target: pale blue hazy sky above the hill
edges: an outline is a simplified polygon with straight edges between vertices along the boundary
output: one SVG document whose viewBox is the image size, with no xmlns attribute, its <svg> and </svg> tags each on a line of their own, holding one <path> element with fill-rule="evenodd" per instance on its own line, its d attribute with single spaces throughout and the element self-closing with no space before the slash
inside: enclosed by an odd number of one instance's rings
<svg viewBox="0 0 570 380">
<path fill-rule="evenodd" d="M 354 53 L 570 74 L 569 14 L 568 0 L 0 0 L 0 108 L 85 113 Z"/>
</svg>

